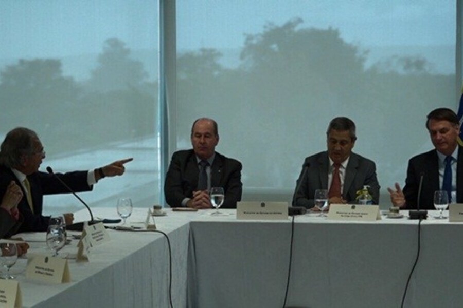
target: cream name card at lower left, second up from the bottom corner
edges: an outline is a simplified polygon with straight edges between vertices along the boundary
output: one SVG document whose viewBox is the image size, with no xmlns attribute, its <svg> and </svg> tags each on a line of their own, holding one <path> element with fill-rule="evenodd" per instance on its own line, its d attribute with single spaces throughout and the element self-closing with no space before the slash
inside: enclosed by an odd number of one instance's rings
<svg viewBox="0 0 463 308">
<path fill-rule="evenodd" d="M 59 257 L 35 255 L 28 260 L 26 278 L 51 283 L 70 281 L 67 260 Z"/>
</svg>

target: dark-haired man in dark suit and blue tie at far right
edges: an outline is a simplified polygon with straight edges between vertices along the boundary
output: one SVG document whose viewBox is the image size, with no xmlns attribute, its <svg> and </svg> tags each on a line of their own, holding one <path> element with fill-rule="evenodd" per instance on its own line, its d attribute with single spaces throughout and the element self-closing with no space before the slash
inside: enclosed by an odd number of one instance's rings
<svg viewBox="0 0 463 308">
<path fill-rule="evenodd" d="M 434 149 L 417 155 L 408 161 L 405 187 L 395 184 L 395 190 L 387 188 L 395 206 L 417 209 L 418 189 L 422 178 L 420 209 L 434 209 L 434 191 L 448 190 L 451 202 L 463 202 L 463 150 L 458 145 L 458 117 L 448 108 L 438 108 L 428 114 L 426 120 Z M 446 178 L 446 167 L 450 174 Z M 447 182 L 448 184 L 444 183 Z M 454 192 L 454 194 L 452 194 Z M 455 198 L 455 197 L 454 197 Z"/>
</svg>

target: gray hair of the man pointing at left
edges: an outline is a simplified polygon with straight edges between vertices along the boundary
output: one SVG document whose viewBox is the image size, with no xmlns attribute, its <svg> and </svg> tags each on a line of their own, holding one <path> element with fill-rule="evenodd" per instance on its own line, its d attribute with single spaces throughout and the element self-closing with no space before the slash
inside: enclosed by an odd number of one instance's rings
<svg viewBox="0 0 463 308">
<path fill-rule="evenodd" d="M 16 127 L 10 130 L 0 145 L 0 163 L 9 168 L 20 166 L 21 157 L 34 152 L 34 140 L 39 140 L 39 137 L 29 128 Z"/>
</svg>

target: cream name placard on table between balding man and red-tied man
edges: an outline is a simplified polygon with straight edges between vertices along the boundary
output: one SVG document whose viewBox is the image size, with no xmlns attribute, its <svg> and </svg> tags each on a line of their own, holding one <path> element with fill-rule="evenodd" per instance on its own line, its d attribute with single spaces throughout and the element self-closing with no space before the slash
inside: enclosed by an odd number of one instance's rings
<svg viewBox="0 0 463 308">
<path fill-rule="evenodd" d="M 288 202 L 238 202 L 236 218 L 239 220 L 287 220 Z"/>
</svg>

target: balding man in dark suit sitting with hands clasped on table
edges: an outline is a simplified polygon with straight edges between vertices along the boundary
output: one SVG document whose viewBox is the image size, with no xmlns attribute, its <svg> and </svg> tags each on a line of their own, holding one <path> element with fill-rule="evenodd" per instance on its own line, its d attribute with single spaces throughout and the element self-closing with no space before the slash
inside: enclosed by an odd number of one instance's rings
<svg viewBox="0 0 463 308">
<path fill-rule="evenodd" d="M 241 200 L 241 163 L 215 151 L 219 143 L 217 123 L 201 118 L 191 128 L 193 149 L 173 153 L 166 174 L 164 194 L 171 207 L 211 208 L 208 190 L 223 187 L 221 208 L 236 208 Z"/>
</svg>

